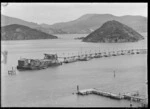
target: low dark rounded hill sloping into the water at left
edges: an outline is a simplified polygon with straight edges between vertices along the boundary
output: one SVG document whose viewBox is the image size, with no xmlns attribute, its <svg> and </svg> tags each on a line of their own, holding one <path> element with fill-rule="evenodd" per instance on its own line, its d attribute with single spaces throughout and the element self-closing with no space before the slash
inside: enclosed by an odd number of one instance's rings
<svg viewBox="0 0 150 109">
<path fill-rule="evenodd" d="M 1 28 L 1 40 L 31 39 L 57 39 L 57 37 L 19 24 L 7 25 Z"/>
</svg>

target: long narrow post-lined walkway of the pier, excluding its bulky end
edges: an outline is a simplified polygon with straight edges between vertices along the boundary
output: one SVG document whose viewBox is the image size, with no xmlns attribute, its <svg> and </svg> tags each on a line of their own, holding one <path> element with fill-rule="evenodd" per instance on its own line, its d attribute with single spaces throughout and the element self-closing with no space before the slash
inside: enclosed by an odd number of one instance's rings
<svg viewBox="0 0 150 109">
<path fill-rule="evenodd" d="M 118 50 L 118 51 L 108 51 L 108 52 L 95 52 L 95 53 L 85 53 L 81 55 L 58 57 L 63 58 L 63 63 L 71 63 L 76 61 L 88 61 L 93 58 L 120 56 L 120 55 L 133 55 L 133 54 L 146 54 L 147 49 L 129 49 L 129 50 Z"/>
</svg>

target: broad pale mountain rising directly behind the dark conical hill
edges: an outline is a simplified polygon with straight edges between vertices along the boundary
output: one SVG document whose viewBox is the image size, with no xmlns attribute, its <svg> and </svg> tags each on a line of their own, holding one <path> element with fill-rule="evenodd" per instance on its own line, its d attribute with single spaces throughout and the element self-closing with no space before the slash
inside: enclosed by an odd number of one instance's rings
<svg viewBox="0 0 150 109">
<path fill-rule="evenodd" d="M 103 23 L 116 20 L 133 28 L 138 32 L 147 32 L 147 18 L 143 16 L 114 16 L 111 14 L 86 14 L 80 18 L 51 25 L 51 28 L 62 29 L 67 33 L 91 33 Z"/>
</svg>

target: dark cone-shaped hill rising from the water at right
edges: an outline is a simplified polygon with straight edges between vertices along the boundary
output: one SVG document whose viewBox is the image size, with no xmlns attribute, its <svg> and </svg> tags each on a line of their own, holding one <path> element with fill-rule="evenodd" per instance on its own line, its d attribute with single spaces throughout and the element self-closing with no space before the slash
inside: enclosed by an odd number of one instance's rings
<svg viewBox="0 0 150 109">
<path fill-rule="evenodd" d="M 132 28 L 118 21 L 105 22 L 100 28 L 83 39 L 84 42 L 136 42 L 144 39 L 142 35 Z"/>
</svg>

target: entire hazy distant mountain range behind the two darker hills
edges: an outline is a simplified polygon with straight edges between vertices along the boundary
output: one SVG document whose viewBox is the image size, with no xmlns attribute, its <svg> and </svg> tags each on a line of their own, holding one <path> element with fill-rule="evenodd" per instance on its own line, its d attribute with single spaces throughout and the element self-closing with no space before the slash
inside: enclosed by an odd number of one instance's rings
<svg viewBox="0 0 150 109">
<path fill-rule="evenodd" d="M 40 30 L 48 34 L 89 34 L 102 26 L 103 23 L 116 20 L 138 32 L 147 32 L 147 18 L 143 16 L 114 16 L 111 14 L 86 14 L 80 18 L 53 25 L 27 22 L 18 18 L 1 15 L 1 26 L 20 24 Z"/>
</svg>

